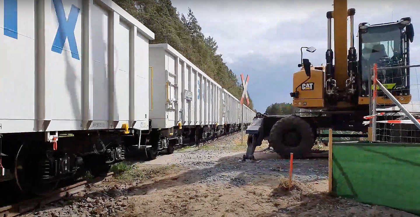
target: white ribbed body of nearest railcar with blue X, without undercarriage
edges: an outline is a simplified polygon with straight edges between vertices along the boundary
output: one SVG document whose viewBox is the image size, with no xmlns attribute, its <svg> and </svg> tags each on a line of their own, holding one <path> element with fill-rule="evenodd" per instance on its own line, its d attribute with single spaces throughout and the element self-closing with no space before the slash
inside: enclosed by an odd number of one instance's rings
<svg viewBox="0 0 420 217">
<path fill-rule="evenodd" d="M 110 0 L 0 5 L 0 133 L 147 129 L 152 31 Z"/>
</svg>

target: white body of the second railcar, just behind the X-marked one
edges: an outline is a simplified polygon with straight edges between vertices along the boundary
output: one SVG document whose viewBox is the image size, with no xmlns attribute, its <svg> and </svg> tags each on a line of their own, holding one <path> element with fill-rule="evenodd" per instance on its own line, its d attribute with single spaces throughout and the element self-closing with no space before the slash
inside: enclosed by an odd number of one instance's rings
<svg viewBox="0 0 420 217">
<path fill-rule="evenodd" d="M 153 128 L 220 124 L 222 88 L 169 44 L 150 44 Z"/>
</svg>

